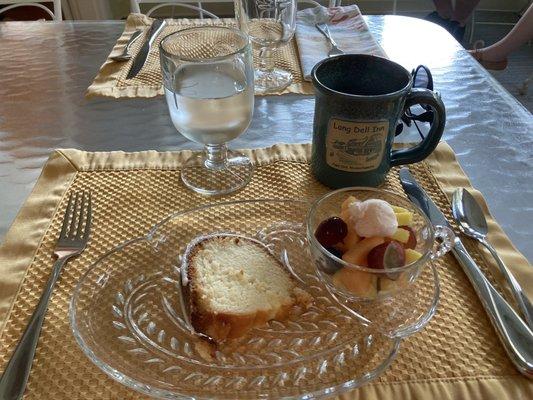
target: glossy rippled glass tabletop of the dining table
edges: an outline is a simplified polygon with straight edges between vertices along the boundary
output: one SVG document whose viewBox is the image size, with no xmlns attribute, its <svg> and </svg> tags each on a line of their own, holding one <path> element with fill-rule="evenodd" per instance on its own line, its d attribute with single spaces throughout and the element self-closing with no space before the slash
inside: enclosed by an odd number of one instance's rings
<svg viewBox="0 0 533 400">
<path fill-rule="evenodd" d="M 438 25 L 392 15 L 366 20 L 392 60 L 409 70 L 430 68 L 446 106 L 443 140 L 515 246 L 533 260 L 531 113 Z M 84 97 L 123 27 L 122 21 L 0 24 L 0 238 L 55 148 L 194 148 L 172 125 L 162 97 Z M 313 96 L 256 97 L 251 126 L 231 146 L 310 142 L 313 112 Z M 412 126 L 398 140 L 417 137 Z"/>
</svg>

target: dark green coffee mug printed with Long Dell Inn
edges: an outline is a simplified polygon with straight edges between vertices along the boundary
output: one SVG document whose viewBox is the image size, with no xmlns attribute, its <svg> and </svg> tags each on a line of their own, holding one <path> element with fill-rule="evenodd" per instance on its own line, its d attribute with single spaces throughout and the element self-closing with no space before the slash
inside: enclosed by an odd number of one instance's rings
<svg viewBox="0 0 533 400">
<path fill-rule="evenodd" d="M 396 165 L 426 158 L 444 131 L 446 112 L 436 93 L 413 88 L 411 74 L 381 57 L 344 54 L 320 61 L 311 73 L 315 117 L 311 169 L 327 186 L 379 186 Z M 427 136 L 408 149 L 392 150 L 405 109 L 433 111 Z"/>
</svg>

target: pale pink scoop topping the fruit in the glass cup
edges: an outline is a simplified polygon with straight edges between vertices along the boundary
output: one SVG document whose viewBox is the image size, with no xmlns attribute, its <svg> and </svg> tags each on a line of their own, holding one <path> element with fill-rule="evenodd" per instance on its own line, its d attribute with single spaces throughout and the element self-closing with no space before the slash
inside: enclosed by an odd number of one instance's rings
<svg viewBox="0 0 533 400">
<path fill-rule="evenodd" d="M 350 223 L 359 236 L 392 236 L 398 229 L 394 210 L 384 200 L 356 201 L 348 206 Z"/>
</svg>

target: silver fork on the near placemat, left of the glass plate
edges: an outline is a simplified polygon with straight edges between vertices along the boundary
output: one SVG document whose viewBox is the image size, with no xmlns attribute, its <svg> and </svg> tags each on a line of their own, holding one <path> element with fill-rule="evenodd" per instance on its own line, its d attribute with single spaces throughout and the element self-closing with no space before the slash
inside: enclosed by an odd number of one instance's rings
<svg viewBox="0 0 533 400">
<path fill-rule="evenodd" d="M 78 256 L 87 246 L 91 231 L 91 214 L 91 193 L 72 193 L 68 199 L 59 240 L 54 249 L 57 260 L 52 267 L 52 274 L 48 278 L 39 304 L 0 378 L 1 400 L 22 399 L 52 290 L 65 263 L 72 257 Z"/>
</svg>

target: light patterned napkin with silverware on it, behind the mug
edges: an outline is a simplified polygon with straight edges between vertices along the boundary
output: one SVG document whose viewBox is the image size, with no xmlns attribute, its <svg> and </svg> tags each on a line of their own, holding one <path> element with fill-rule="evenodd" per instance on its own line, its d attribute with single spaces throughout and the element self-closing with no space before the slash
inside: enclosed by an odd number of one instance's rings
<svg viewBox="0 0 533 400">
<path fill-rule="evenodd" d="M 305 80 L 311 80 L 311 70 L 328 56 L 330 50 L 329 42 L 315 27 L 316 23 L 324 22 L 328 24 L 333 40 L 345 53 L 387 57 L 356 5 L 307 8 L 296 14 L 296 43 Z"/>
</svg>

